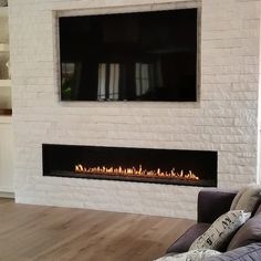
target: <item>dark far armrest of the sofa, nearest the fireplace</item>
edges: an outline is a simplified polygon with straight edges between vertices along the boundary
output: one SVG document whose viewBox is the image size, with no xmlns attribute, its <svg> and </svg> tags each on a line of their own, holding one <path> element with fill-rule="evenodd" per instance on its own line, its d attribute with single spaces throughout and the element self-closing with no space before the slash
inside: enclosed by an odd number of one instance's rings
<svg viewBox="0 0 261 261">
<path fill-rule="evenodd" d="M 212 223 L 229 211 L 237 191 L 202 189 L 198 195 L 198 222 Z"/>
</svg>

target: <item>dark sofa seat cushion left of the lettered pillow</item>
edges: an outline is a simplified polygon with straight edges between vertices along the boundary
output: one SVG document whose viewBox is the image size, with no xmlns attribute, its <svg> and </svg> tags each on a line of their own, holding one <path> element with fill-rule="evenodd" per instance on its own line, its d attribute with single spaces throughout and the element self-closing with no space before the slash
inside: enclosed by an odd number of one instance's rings
<svg viewBox="0 0 261 261">
<path fill-rule="evenodd" d="M 210 223 L 194 225 L 167 249 L 167 253 L 187 252 L 195 239 L 202 234 L 209 227 Z"/>
</svg>

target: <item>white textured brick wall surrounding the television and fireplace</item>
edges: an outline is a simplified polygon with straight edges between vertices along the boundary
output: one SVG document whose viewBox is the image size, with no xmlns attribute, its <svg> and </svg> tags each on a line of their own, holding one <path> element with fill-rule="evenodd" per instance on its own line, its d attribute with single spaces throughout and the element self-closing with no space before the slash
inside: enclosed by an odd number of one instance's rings
<svg viewBox="0 0 261 261">
<path fill-rule="evenodd" d="M 58 12 L 195 6 L 198 103 L 59 102 Z M 211 149 L 220 188 L 258 180 L 260 1 L 10 0 L 10 39 L 18 202 L 196 218 L 200 188 L 42 177 L 43 143 Z"/>
</svg>

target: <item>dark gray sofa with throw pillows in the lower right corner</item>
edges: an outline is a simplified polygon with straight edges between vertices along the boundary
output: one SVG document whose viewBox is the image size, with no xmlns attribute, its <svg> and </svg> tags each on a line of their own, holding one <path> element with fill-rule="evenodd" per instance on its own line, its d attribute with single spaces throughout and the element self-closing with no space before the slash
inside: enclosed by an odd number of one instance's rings
<svg viewBox="0 0 261 261">
<path fill-rule="evenodd" d="M 221 215 L 229 211 L 237 191 L 202 189 L 198 195 L 197 223 L 190 227 L 168 249 L 167 254 L 188 251 L 196 238 L 202 234 Z M 261 206 L 260 201 L 251 218 L 228 240 L 219 251 L 222 254 L 206 261 L 261 261 Z"/>
</svg>

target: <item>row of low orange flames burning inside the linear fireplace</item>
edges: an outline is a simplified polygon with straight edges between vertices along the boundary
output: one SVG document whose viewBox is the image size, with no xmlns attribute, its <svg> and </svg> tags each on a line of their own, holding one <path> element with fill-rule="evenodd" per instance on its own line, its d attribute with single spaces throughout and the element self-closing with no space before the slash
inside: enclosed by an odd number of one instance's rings
<svg viewBox="0 0 261 261">
<path fill-rule="evenodd" d="M 170 171 L 163 171 L 160 168 L 157 170 L 147 170 L 143 169 L 143 166 L 139 165 L 138 168 L 124 168 L 122 166 L 118 167 L 85 167 L 82 164 L 75 165 L 76 174 L 87 174 L 87 175 L 101 175 L 101 176 L 122 176 L 122 177 L 140 177 L 140 178 L 174 178 L 174 179 L 182 179 L 182 180 L 191 180 L 197 181 L 199 177 L 189 170 L 185 173 L 185 170 L 176 171 L 173 168 Z"/>
</svg>

